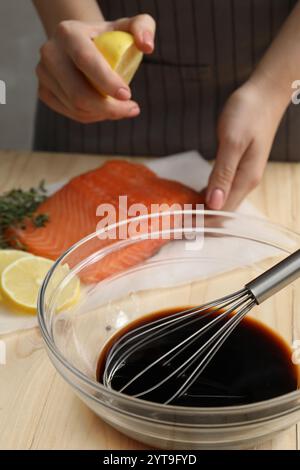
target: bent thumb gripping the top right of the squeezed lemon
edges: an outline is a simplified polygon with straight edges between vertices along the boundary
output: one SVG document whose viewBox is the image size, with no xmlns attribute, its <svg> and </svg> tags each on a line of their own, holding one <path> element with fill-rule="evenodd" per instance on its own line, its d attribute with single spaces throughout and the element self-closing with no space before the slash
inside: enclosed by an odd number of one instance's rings
<svg viewBox="0 0 300 470">
<path fill-rule="evenodd" d="M 114 29 L 132 33 L 136 46 L 145 54 L 153 52 L 156 23 L 152 16 L 144 14 L 122 18 L 114 22 Z"/>
</svg>

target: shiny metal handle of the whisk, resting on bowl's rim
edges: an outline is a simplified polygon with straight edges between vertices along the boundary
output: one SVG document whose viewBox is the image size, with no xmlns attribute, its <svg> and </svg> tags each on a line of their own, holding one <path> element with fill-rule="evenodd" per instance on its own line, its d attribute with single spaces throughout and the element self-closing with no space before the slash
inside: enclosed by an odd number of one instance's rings
<svg viewBox="0 0 300 470">
<path fill-rule="evenodd" d="M 246 284 L 246 288 L 252 293 L 256 303 L 261 304 L 298 277 L 300 277 L 300 250 Z"/>
</svg>

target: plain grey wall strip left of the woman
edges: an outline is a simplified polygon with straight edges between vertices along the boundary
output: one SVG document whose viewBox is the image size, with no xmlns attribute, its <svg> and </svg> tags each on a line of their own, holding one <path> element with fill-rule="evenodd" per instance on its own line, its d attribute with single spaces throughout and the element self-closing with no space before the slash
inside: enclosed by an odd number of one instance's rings
<svg viewBox="0 0 300 470">
<path fill-rule="evenodd" d="M 51 0 L 49 0 L 50 2 Z M 35 66 L 44 33 L 31 0 L 0 0 L 0 149 L 31 148 L 36 104 Z"/>
</svg>

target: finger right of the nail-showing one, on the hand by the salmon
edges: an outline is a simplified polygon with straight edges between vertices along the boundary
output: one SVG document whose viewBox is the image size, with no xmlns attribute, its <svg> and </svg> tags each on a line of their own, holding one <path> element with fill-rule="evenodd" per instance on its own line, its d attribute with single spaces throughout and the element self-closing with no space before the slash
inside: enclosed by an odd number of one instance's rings
<svg viewBox="0 0 300 470">
<path fill-rule="evenodd" d="M 267 163 L 268 152 L 261 157 L 261 149 L 252 143 L 242 157 L 236 171 L 232 188 L 225 203 L 224 210 L 235 210 L 245 197 L 259 184 Z"/>
</svg>

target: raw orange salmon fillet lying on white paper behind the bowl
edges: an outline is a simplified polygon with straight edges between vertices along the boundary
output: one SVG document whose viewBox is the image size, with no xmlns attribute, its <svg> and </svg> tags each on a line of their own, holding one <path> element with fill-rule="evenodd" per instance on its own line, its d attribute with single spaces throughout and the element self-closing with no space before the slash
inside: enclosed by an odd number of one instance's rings
<svg viewBox="0 0 300 470">
<path fill-rule="evenodd" d="M 49 223 L 45 227 L 37 228 L 28 221 L 25 228 L 11 229 L 10 235 L 30 253 L 55 260 L 74 243 L 95 232 L 100 221 L 96 215 L 100 204 L 112 204 L 118 219 L 127 218 L 126 214 L 119 213 L 119 196 L 127 196 L 128 206 L 142 203 L 147 208 L 151 204 L 162 203 L 203 203 L 203 197 L 196 191 L 181 183 L 159 178 L 142 164 L 112 160 L 72 179 L 41 204 L 37 214 L 49 215 Z M 80 256 L 88 256 L 115 241 L 96 239 L 83 247 Z M 134 266 L 156 253 L 164 243 L 165 240 L 144 240 L 111 253 L 87 268 L 84 280 L 99 281 Z M 78 257 L 74 258 L 74 265 L 78 261 Z"/>
</svg>

